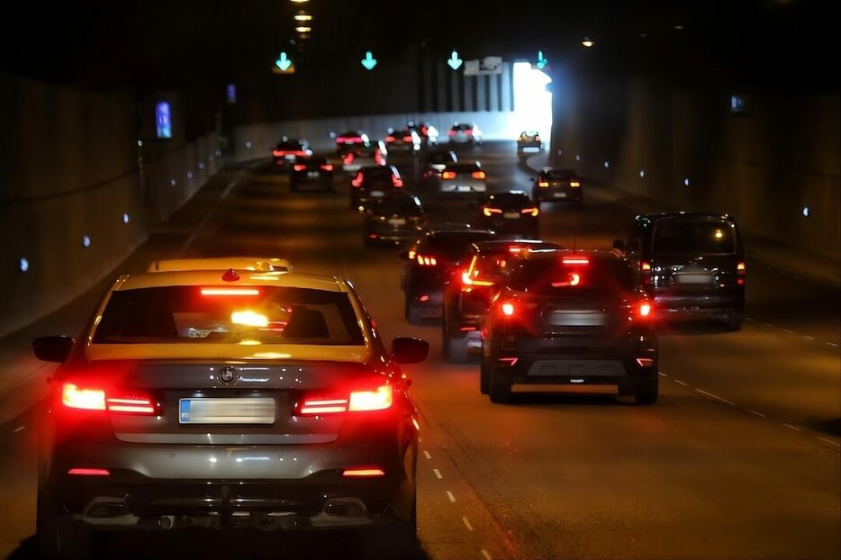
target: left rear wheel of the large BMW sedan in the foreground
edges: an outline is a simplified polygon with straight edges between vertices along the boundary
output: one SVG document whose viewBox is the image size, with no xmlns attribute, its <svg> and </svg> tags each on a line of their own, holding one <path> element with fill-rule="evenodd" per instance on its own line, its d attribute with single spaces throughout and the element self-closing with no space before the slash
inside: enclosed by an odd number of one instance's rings
<svg viewBox="0 0 841 560">
<path fill-rule="evenodd" d="M 41 495 L 36 516 L 35 548 L 43 560 L 82 560 L 91 555 L 91 536 L 68 515 L 45 506 Z"/>
</svg>

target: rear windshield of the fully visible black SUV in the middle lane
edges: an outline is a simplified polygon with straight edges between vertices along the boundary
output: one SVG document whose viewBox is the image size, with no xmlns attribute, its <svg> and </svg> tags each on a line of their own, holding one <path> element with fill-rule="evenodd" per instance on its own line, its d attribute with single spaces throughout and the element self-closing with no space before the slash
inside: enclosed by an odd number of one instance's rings
<svg viewBox="0 0 841 560">
<path fill-rule="evenodd" d="M 511 272 L 511 289 L 538 295 L 628 294 L 637 288 L 634 271 L 617 258 L 589 258 L 565 265 L 562 257 L 525 260 Z"/>
</svg>

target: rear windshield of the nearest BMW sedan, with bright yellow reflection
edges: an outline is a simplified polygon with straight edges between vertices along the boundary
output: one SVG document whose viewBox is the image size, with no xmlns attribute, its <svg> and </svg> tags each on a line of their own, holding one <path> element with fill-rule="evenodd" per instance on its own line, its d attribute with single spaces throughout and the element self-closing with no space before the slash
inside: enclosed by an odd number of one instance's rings
<svg viewBox="0 0 841 560">
<path fill-rule="evenodd" d="M 219 294 L 234 288 L 247 294 Z M 364 344 L 348 294 L 276 286 L 114 292 L 94 332 L 95 344 L 202 342 Z"/>
</svg>

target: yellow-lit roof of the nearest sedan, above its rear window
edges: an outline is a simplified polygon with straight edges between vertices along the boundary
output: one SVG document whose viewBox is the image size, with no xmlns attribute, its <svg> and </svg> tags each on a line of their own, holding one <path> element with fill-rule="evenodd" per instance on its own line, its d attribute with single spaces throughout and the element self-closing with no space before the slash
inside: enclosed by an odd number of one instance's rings
<svg viewBox="0 0 841 560">
<path fill-rule="evenodd" d="M 141 288 L 159 288 L 167 286 L 213 286 L 237 288 L 240 286 L 284 286 L 310 288 L 326 292 L 343 292 L 343 282 L 337 276 L 316 275 L 303 272 L 249 271 L 234 269 L 239 280 L 229 282 L 222 279 L 228 271 L 215 270 L 178 270 L 138 275 L 122 275 L 113 286 L 114 292 L 137 290 Z"/>
</svg>

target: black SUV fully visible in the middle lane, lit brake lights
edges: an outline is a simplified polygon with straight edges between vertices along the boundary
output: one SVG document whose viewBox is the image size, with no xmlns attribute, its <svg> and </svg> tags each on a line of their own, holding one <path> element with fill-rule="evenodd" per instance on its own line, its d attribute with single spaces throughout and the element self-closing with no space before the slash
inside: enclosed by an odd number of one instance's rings
<svg viewBox="0 0 841 560">
<path fill-rule="evenodd" d="M 484 324 L 480 389 L 510 402 L 512 384 L 616 385 L 656 402 L 653 305 L 611 253 L 524 251 Z"/>
</svg>

